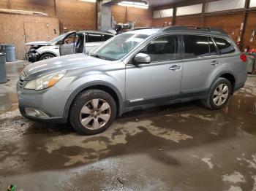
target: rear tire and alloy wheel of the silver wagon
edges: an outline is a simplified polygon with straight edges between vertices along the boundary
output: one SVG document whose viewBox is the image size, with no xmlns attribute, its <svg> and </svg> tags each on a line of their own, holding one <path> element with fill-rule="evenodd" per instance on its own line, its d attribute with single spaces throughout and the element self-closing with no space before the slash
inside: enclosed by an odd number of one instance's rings
<svg viewBox="0 0 256 191">
<path fill-rule="evenodd" d="M 228 79 L 219 77 L 208 93 L 204 106 L 208 109 L 222 109 L 228 102 L 232 91 L 231 83 Z"/>
</svg>

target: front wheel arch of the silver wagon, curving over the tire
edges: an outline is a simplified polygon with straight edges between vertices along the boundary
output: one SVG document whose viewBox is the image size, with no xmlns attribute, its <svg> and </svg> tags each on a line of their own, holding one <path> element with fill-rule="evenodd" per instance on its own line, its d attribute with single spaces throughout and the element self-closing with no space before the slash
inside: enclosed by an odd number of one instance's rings
<svg viewBox="0 0 256 191">
<path fill-rule="evenodd" d="M 114 85 L 108 82 L 89 82 L 89 83 L 86 83 L 85 85 L 80 85 L 80 87 L 75 89 L 71 93 L 71 95 L 69 95 L 69 98 L 67 99 L 67 103 L 64 107 L 65 118 L 68 119 L 70 106 L 72 106 L 72 103 L 75 100 L 76 96 L 85 90 L 91 90 L 91 89 L 103 90 L 109 93 L 113 97 L 113 99 L 116 101 L 117 116 L 120 116 L 122 114 L 122 110 L 124 108 L 124 101 L 121 93 Z"/>
</svg>

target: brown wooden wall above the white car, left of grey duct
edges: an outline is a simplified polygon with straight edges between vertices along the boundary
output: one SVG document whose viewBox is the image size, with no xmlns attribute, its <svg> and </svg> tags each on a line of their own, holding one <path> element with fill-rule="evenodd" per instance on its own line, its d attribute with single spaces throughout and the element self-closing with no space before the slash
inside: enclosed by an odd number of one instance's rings
<svg viewBox="0 0 256 191">
<path fill-rule="evenodd" d="M 9 3 L 8 3 L 9 2 Z M 78 0 L 6 0 L 0 1 L 0 9 L 20 9 L 48 13 L 59 17 L 60 31 L 96 30 L 96 4 Z"/>
</svg>

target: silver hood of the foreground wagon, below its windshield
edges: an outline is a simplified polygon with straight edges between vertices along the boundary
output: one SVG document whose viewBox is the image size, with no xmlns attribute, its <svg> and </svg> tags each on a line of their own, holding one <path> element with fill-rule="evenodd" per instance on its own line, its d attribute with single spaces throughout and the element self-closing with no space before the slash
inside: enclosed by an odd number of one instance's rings
<svg viewBox="0 0 256 191">
<path fill-rule="evenodd" d="M 42 74 L 47 74 L 52 71 L 84 69 L 91 66 L 107 64 L 110 62 L 111 61 L 91 57 L 84 53 L 64 55 L 31 63 L 23 70 L 23 74 L 25 74 L 26 80 L 31 80 L 39 77 Z"/>
</svg>

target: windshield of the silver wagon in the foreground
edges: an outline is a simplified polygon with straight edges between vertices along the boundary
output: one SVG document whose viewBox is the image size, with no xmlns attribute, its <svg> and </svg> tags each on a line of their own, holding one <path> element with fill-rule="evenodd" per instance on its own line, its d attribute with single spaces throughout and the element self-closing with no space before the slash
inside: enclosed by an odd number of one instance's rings
<svg viewBox="0 0 256 191">
<path fill-rule="evenodd" d="M 98 58 L 105 58 L 111 61 L 117 61 L 127 55 L 140 42 L 146 39 L 146 34 L 119 34 L 102 47 L 90 52 L 90 55 Z"/>
</svg>

